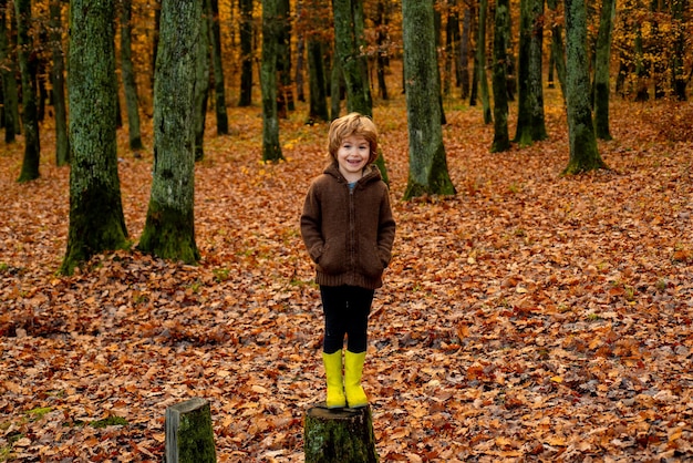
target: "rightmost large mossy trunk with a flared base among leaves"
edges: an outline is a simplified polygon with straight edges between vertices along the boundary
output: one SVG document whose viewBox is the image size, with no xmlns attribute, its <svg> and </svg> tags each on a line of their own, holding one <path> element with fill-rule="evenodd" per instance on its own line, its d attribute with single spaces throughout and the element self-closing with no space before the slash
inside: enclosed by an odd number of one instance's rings
<svg viewBox="0 0 693 463">
<path fill-rule="evenodd" d="M 570 161 L 563 175 L 606 167 L 597 148 L 592 124 L 587 65 L 587 7 L 583 0 L 565 0 L 566 90 Z"/>
</svg>

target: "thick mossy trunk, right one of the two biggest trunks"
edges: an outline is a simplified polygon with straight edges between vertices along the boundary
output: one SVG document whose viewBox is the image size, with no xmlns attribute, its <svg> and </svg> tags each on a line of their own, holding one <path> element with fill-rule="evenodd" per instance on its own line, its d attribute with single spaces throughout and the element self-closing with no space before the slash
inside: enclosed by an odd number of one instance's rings
<svg viewBox="0 0 693 463">
<path fill-rule="evenodd" d="M 154 172 L 147 218 L 138 248 L 194 264 L 195 70 L 199 59 L 203 3 L 162 3 L 154 80 Z"/>
</svg>

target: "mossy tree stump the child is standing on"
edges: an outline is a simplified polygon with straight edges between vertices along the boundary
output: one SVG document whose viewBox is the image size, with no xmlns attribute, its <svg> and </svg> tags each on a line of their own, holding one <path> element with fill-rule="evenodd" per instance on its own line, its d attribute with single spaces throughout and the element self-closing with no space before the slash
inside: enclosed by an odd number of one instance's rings
<svg viewBox="0 0 693 463">
<path fill-rule="evenodd" d="M 377 463 L 371 408 L 312 407 L 303 426 L 306 463 Z"/>
</svg>

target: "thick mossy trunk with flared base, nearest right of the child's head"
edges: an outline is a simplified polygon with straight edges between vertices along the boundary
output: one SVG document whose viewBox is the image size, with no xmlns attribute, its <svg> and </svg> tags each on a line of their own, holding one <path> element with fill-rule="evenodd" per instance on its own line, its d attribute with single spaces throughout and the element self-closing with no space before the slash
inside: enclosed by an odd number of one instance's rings
<svg viewBox="0 0 693 463">
<path fill-rule="evenodd" d="M 402 1 L 410 172 L 404 198 L 454 195 L 441 127 L 433 3 Z"/>
</svg>

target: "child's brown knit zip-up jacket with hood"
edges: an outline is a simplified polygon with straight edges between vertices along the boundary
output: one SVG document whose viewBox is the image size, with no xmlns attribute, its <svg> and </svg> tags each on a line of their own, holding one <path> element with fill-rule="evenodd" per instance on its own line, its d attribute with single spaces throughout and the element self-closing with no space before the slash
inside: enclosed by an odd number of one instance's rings
<svg viewBox="0 0 693 463">
<path fill-rule="evenodd" d="M 395 222 L 387 185 L 371 165 L 353 189 L 337 163 L 317 177 L 306 196 L 301 236 L 316 263 L 316 282 L 380 288 L 392 257 Z"/>
</svg>

